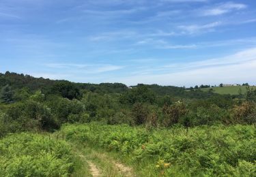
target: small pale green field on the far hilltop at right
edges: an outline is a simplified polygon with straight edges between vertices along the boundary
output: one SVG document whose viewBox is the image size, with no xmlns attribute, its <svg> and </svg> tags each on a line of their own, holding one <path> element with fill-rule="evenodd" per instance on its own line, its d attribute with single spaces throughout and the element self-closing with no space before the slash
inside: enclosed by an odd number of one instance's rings
<svg viewBox="0 0 256 177">
<path fill-rule="evenodd" d="M 256 86 L 252 86 L 256 89 Z M 214 87 L 213 92 L 218 94 L 230 94 L 238 95 L 239 89 L 241 88 L 242 93 L 246 93 L 246 86 L 225 86 L 225 87 Z M 202 91 L 209 91 L 211 88 L 201 88 Z"/>
</svg>

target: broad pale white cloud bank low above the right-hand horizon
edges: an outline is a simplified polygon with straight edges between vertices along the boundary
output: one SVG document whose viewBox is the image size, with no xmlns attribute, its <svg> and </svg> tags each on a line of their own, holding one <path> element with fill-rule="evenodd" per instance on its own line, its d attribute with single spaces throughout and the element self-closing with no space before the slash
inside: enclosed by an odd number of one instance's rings
<svg viewBox="0 0 256 177">
<path fill-rule="evenodd" d="M 251 48 L 218 59 L 193 63 L 176 63 L 167 66 L 169 72 L 152 74 L 141 71 L 136 76 L 115 78 L 115 82 L 132 85 L 137 83 L 193 86 L 195 84 L 255 83 L 256 48 Z M 151 73 L 151 74 L 149 74 Z M 114 80 L 108 80 L 114 82 Z"/>
</svg>

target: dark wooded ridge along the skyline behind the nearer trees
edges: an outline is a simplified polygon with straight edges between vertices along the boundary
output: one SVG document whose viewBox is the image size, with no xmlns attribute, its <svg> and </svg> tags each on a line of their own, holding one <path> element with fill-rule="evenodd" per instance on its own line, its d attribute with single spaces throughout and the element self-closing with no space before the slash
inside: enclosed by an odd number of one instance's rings
<svg viewBox="0 0 256 177">
<path fill-rule="evenodd" d="M 85 78 L 86 79 L 86 78 Z M 209 93 L 197 89 L 195 91 L 186 91 L 183 87 L 177 86 L 160 86 L 157 84 L 137 84 L 137 86 L 128 87 L 122 83 L 101 83 L 101 84 L 90 84 L 90 83 L 75 83 L 67 80 L 50 80 L 45 78 L 34 78 L 33 76 L 16 74 L 14 72 L 0 73 L 0 88 L 9 85 L 12 90 L 19 90 L 24 87 L 28 88 L 32 93 L 41 90 L 44 94 L 59 94 L 62 97 L 69 99 L 79 98 L 86 91 L 93 93 L 126 93 L 129 90 L 134 90 L 138 86 L 145 86 L 153 91 L 154 94 L 159 97 L 168 95 L 169 97 L 182 97 L 189 99 L 205 99 L 214 93 Z M 130 88 L 130 89 L 129 89 Z M 137 90 L 134 90 L 136 92 Z"/>
</svg>

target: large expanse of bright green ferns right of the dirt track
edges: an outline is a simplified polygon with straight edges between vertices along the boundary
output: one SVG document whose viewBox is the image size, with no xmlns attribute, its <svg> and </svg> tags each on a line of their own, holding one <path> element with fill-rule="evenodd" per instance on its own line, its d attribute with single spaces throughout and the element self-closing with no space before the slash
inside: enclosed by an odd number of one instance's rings
<svg viewBox="0 0 256 177">
<path fill-rule="evenodd" d="M 100 150 L 94 155 L 99 166 L 111 163 L 103 154 L 113 152 L 111 157 L 133 167 L 137 176 L 256 175 L 256 131 L 252 125 L 201 126 L 187 131 L 183 127 L 147 130 L 90 123 L 67 125 L 61 131 L 72 143 Z"/>
</svg>

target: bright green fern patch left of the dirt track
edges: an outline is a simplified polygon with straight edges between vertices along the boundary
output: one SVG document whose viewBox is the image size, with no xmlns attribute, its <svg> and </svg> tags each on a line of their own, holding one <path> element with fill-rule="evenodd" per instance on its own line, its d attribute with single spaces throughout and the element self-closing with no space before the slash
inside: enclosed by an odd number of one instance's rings
<svg viewBox="0 0 256 177">
<path fill-rule="evenodd" d="M 74 159 L 66 142 L 20 133 L 0 140 L 1 176 L 70 176 Z"/>
</svg>

